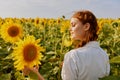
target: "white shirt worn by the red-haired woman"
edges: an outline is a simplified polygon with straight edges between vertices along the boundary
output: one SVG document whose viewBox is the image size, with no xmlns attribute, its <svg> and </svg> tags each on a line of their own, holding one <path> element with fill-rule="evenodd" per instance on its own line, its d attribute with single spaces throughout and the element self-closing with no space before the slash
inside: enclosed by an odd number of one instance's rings
<svg viewBox="0 0 120 80">
<path fill-rule="evenodd" d="M 62 80 L 98 80 L 109 72 L 107 53 L 98 42 L 90 41 L 84 47 L 65 54 L 61 76 Z"/>
</svg>

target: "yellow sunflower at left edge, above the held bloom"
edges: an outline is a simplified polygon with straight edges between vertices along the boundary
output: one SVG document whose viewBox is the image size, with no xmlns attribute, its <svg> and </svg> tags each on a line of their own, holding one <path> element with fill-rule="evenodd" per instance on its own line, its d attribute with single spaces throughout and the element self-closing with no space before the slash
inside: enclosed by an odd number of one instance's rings
<svg viewBox="0 0 120 80">
<path fill-rule="evenodd" d="M 10 43 L 14 43 L 23 36 L 23 29 L 20 24 L 17 23 L 5 23 L 0 29 L 1 37 Z"/>
</svg>

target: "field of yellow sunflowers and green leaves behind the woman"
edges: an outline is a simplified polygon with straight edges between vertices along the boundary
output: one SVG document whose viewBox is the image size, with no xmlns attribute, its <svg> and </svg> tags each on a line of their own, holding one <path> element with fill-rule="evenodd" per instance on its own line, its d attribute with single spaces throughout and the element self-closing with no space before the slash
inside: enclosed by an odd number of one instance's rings
<svg viewBox="0 0 120 80">
<path fill-rule="evenodd" d="M 120 79 L 120 18 L 98 19 L 98 41 L 108 53 L 111 71 L 100 80 Z M 45 80 L 61 80 L 66 52 L 74 46 L 70 21 L 58 18 L 0 18 L 0 80 L 37 80 L 24 66 L 39 65 Z"/>
</svg>

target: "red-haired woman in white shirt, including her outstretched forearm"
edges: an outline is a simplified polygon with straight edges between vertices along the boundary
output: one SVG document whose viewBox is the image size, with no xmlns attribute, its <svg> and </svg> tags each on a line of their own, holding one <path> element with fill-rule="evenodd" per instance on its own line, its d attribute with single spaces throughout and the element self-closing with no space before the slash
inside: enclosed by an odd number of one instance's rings
<svg viewBox="0 0 120 80">
<path fill-rule="evenodd" d="M 109 58 L 96 41 L 97 31 L 97 19 L 92 12 L 83 10 L 73 14 L 70 33 L 77 44 L 75 49 L 65 54 L 62 80 L 98 80 L 109 75 Z M 40 74 L 38 76 L 43 80 Z"/>
</svg>

